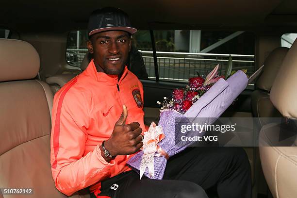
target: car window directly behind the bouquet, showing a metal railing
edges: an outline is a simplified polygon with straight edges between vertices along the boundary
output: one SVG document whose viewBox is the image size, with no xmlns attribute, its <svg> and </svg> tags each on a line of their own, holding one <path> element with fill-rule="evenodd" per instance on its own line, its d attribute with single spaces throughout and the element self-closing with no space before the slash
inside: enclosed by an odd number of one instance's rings
<svg viewBox="0 0 297 198">
<path fill-rule="evenodd" d="M 186 82 L 207 75 L 216 64 L 224 75 L 230 54 L 234 70 L 254 72 L 253 33 L 167 30 L 154 31 L 154 38 L 160 80 Z"/>
</svg>

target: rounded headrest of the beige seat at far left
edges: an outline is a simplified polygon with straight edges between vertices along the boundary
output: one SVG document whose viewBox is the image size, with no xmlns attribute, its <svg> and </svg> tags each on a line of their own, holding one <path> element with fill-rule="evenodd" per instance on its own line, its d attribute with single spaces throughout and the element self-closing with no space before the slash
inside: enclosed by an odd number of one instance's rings
<svg viewBox="0 0 297 198">
<path fill-rule="evenodd" d="M 39 66 L 39 55 L 30 43 L 0 39 L 0 82 L 33 79 Z"/>
</svg>

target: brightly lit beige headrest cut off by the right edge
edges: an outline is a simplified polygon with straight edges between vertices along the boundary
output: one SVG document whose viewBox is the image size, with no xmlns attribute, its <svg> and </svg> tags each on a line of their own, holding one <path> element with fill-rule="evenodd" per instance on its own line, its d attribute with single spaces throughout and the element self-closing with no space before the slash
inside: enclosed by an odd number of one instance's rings
<svg viewBox="0 0 297 198">
<path fill-rule="evenodd" d="M 297 41 L 289 49 L 270 91 L 270 100 L 285 117 L 297 118 Z"/>
</svg>

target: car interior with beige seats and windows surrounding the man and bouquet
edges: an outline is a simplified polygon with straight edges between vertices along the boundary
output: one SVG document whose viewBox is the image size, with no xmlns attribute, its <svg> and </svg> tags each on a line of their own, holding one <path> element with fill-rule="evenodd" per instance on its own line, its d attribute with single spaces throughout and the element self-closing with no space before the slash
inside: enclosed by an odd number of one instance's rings
<svg viewBox="0 0 297 198">
<path fill-rule="evenodd" d="M 248 75 L 264 65 L 222 117 L 254 118 L 249 120 L 257 146 L 244 147 L 253 198 L 297 197 L 296 0 L 1 2 L 0 188 L 33 188 L 32 195 L 23 195 L 30 198 L 67 197 L 51 175 L 53 97 L 91 61 L 88 17 L 102 7 L 124 10 L 139 30 L 132 44 L 148 73 L 139 78 L 146 125 L 159 117 L 157 101 L 216 64 L 224 72 L 229 54 L 233 67 L 247 68 Z M 272 144 L 283 130 L 267 117 L 293 123 L 287 131 L 294 134 Z M 217 198 L 215 190 L 207 193 Z M 68 197 L 89 198 L 89 190 Z"/>
</svg>

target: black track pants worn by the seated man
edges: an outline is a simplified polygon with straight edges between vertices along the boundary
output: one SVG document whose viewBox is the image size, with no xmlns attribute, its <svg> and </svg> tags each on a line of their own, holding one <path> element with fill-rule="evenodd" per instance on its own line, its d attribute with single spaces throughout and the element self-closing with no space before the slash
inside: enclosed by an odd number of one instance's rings
<svg viewBox="0 0 297 198">
<path fill-rule="evenodd" d="M 124 172 L 101 182 L 99 198 L 208 198 L 204 190 L 214 186 L 220 198 L 251 198 L 250 165 L 242 148 L 187 148 L 168 160 L 163 180 Z"/>
</svg>

